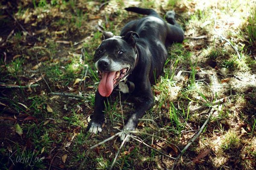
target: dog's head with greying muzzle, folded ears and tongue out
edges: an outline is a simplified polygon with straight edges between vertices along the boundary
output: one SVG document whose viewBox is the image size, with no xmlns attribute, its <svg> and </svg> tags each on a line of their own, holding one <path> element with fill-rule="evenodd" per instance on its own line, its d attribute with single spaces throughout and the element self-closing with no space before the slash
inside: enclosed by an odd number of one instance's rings
<svg viewBox="0 0 256 170">
<path fill-rule="evenodd" d="M 123 37 L 103 32 L 102 43 L 94 54 L 101 79 L 98 86 L 101 96 L 110 96 L 113 88 L 134 69 L 137 60 L 135 37 L 139 38 L 139 35 L 134 31 L 129 31 Z"/>
</svg>

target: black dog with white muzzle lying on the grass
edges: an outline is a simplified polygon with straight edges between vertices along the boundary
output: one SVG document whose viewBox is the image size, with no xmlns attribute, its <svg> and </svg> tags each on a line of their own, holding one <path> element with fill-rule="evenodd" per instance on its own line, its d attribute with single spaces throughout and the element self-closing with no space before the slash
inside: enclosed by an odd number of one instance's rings
<svg viewBox="0 0 256 170">
<path fill-rule="evenodd" d="M 145 111 L 154 105 L 151 84 L 163 71 L 168 56 L 166 47 L 184 39 L 173 11 L 166 13 L 166 23 L 153 9 L 129 7 L 125 10 L 148 16 L 127 23 L 120 36 L 103 32 L 102 43 L 94 54 L 101 81 L 95 95 L 94 114 L 87 127 L 91 133 L 102 131 L 105 102 L 117 85 L 123 93 L 132 90 L 131 95 L 137 99 L 135 112 L 124 130 L 136 128 Z M 121 139 L 124 138 L 125 133 L 122 133 Z"/>
</svg>

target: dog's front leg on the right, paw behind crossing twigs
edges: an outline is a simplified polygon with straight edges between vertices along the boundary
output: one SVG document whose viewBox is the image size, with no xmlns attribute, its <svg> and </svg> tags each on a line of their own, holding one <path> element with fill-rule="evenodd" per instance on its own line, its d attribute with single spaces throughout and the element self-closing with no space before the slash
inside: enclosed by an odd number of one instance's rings
<svg viewBox="0 0 256 170">
<path fill-rule="evenodd" d="M 150 87 L 150 86 L 149 86 Z M 123 131 L 124 133 L 120 134 L 120 139 L 123 141 L 126 137 L 126 134 L 129 134 L 128 131 L 135 130 L 139 120 L 143 117 L 146 111 L 148 111 L 154 105 L 154 96 L 151 91 L 151 88 L 145 91 L 141 91 L 140 94 L 137 94 L 137 105 L 135 105 L 135 112 L 132 113 L 128 121 L 126 122 Z M 128 141 L 129 138 L 126 139 Z"/>
</svg>

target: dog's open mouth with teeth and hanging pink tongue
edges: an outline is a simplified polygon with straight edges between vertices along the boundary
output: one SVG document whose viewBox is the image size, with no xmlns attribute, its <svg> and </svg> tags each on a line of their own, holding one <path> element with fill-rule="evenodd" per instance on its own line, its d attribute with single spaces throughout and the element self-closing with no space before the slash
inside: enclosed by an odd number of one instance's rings
<svg viewBox="0 0 256 170">
<path fill-rule="evenodd" d="M 99 71 L 99 94 L 108 97 L 113 89 L 128 74 L 128 68 L 123 68 L 120 71 L 101 72 Z"/>
</svg>

